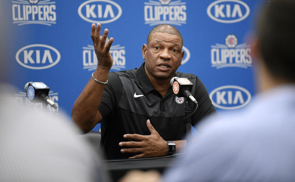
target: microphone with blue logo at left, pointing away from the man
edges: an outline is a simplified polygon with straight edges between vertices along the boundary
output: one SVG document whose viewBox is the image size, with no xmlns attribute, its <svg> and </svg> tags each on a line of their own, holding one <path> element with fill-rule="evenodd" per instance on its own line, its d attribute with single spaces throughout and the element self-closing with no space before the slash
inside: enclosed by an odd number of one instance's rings
<svg viewBox="0 0 295 182">
<path fill-rule="evenodd" d="M 55 103 L 48 97 L 49 87 L 41 81 L 30 81 L 25 85 L 26 97 L 32 102 L 45 101 L 54 109 L 57 109 Z"/>
</svg>

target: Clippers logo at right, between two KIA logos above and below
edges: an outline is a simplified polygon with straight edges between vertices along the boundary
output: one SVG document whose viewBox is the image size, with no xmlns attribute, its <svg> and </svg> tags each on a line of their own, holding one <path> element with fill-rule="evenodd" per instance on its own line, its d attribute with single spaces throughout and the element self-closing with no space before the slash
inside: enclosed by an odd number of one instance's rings
<svg viewBox="0 0 295 182">
<path fill-rule="evenodd" d="M 238 44 L 238 38 L 233 35 L 227 35 L 225 45 L 211 45 L 211 64 L 212 67 L 240 67 L 248 68 L 252 66 L 252 57 L 250 55 L 250 45 L 246 43 Z"/>
</svg>

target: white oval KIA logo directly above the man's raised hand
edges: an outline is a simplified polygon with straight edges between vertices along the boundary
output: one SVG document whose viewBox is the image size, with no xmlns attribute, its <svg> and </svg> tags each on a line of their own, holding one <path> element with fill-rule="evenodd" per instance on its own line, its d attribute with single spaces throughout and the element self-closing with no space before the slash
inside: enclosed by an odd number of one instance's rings
<svg viewBox="0 0 295 182">
<path fill-rule="evenodd" d="M 110 23 L 122 15 L 122 8 L 110 0 L 89 0 L 78 8 L 79 16 L 90 23 Z"/>
</svg>

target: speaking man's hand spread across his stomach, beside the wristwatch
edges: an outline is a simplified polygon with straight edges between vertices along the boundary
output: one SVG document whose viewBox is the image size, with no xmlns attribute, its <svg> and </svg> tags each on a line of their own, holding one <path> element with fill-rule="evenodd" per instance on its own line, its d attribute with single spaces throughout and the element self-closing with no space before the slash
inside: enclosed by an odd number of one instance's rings
<svg viewBox="0 0 295 182">
<path fill-rule="evenodd" d="M 121 152 L 140 153 L 129 158 L 166 156 L 168 145 L 167 141 L 163 140 L 163 138 L 151 125 L 150 120 L 147 120 L 147 127 L 151 132 L 151 135 L 125 134 L 123 136 L 124 138 L 137 141 L 120 142 L 119 146 L 121 147 L 132 147 L 122 148 Z"/>
</svg>

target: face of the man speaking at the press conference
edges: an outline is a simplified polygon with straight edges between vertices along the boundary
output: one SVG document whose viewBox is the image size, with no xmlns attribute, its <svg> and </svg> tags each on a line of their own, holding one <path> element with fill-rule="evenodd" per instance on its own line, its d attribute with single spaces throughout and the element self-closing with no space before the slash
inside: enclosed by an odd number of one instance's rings
<svg viewBox="0 0 295 182">
<path fill-rule="evenodd" d="M 142 47 L 145 72 L 150 81 L 162 82 L 174 76 L 184 56 L 181 39 L 177 35 L 154 33 Z"/>
</svg>

